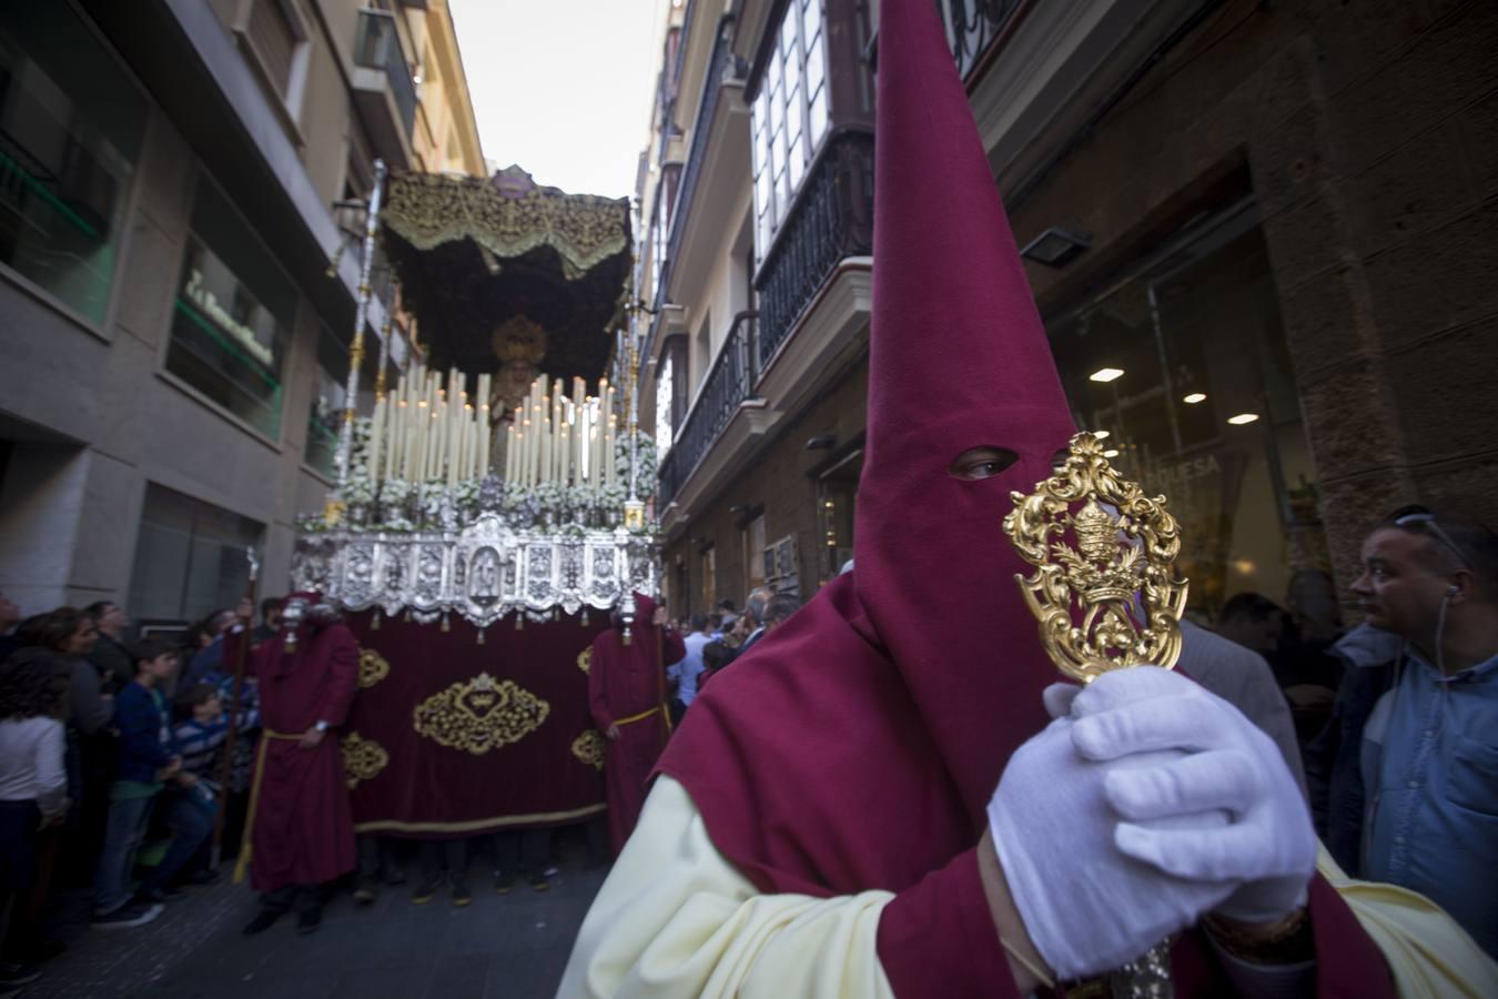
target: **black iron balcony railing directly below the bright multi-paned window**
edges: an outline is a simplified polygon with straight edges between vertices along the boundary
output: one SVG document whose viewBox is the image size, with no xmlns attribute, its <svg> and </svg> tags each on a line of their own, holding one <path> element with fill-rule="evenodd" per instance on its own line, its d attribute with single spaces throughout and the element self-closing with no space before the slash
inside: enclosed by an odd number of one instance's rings
<svg viewBox="0 0 1498 999">
<path fill-rule="evenodd" d="M 848 256 L 873 250 L 873 133 L 833 133 L 759 267 L 762 371 L 812 298 Z"/>
</svg>

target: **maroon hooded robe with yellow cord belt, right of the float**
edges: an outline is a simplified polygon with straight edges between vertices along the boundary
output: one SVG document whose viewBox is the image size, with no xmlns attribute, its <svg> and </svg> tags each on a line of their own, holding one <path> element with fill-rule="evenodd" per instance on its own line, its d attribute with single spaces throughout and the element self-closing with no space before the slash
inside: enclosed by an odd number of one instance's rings
<svg viewBox="0 0 1498 999">
<path fill-rule="evenodd" d="M 610 725 L 619 725 L 619 738 L 604 740 L 608 837 L 616 855 L 640 821 L 646 780 L 671 732 L 665 666 L 686 655 L 680 635 L 650 626 L 653 601 L 635 595 L 635 614 L 634 643 L 629 646 L 625 646 L 619 629 L 593 640 L 587 674 L 589 708 L 598 731 L 607 732 Z"/>
</svg>

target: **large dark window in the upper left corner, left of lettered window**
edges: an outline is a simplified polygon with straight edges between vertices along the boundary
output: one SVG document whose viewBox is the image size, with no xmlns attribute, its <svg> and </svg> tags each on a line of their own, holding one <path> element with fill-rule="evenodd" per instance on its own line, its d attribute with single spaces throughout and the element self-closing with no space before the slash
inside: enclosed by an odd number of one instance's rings
<svg viewBox="0 0 1498 999">
<path fill-rule="evenodd" d="M 100 327 L 145 115 L 70 4 L 0 4 L 0 262 Z"/>
</svg>

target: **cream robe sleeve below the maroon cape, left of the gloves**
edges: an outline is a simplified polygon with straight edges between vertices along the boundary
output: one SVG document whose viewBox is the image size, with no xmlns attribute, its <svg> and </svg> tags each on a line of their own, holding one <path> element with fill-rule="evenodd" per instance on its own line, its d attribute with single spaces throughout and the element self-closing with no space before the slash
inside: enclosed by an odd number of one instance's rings
<svg viewBox="0 0 1498 999">
<path fill-rule="evenodd" d="M 713 846 L 686 789 L 661 776 L 557 996 L 893 999 L 875 950 L 893 897 L 761 894 Z"/>
</svg>

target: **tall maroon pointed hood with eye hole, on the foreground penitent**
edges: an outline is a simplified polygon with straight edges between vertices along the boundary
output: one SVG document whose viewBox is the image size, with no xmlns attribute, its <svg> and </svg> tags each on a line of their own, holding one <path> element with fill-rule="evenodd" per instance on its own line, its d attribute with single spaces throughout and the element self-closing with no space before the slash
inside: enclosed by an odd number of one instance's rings
<svg viewBox="0 0 1498 999">
<path fill-rule="evenodd" d="M 854 580 L 965 800 L 981 810 L 995 761 L 1037 728 L 1029 687 L 1055 675 L 1014 586 L 1028 566 L 1001 521 L 1010 491 L 1047 478 L 1074 427 L 930 7 L 881 9 L 869 443 Z M 984 481 L 950 475 L 960 454 L 981 446 L 1016 460 Z M 1004 714 L 1005 704 L 1025 723 Z"/>
</svg>

